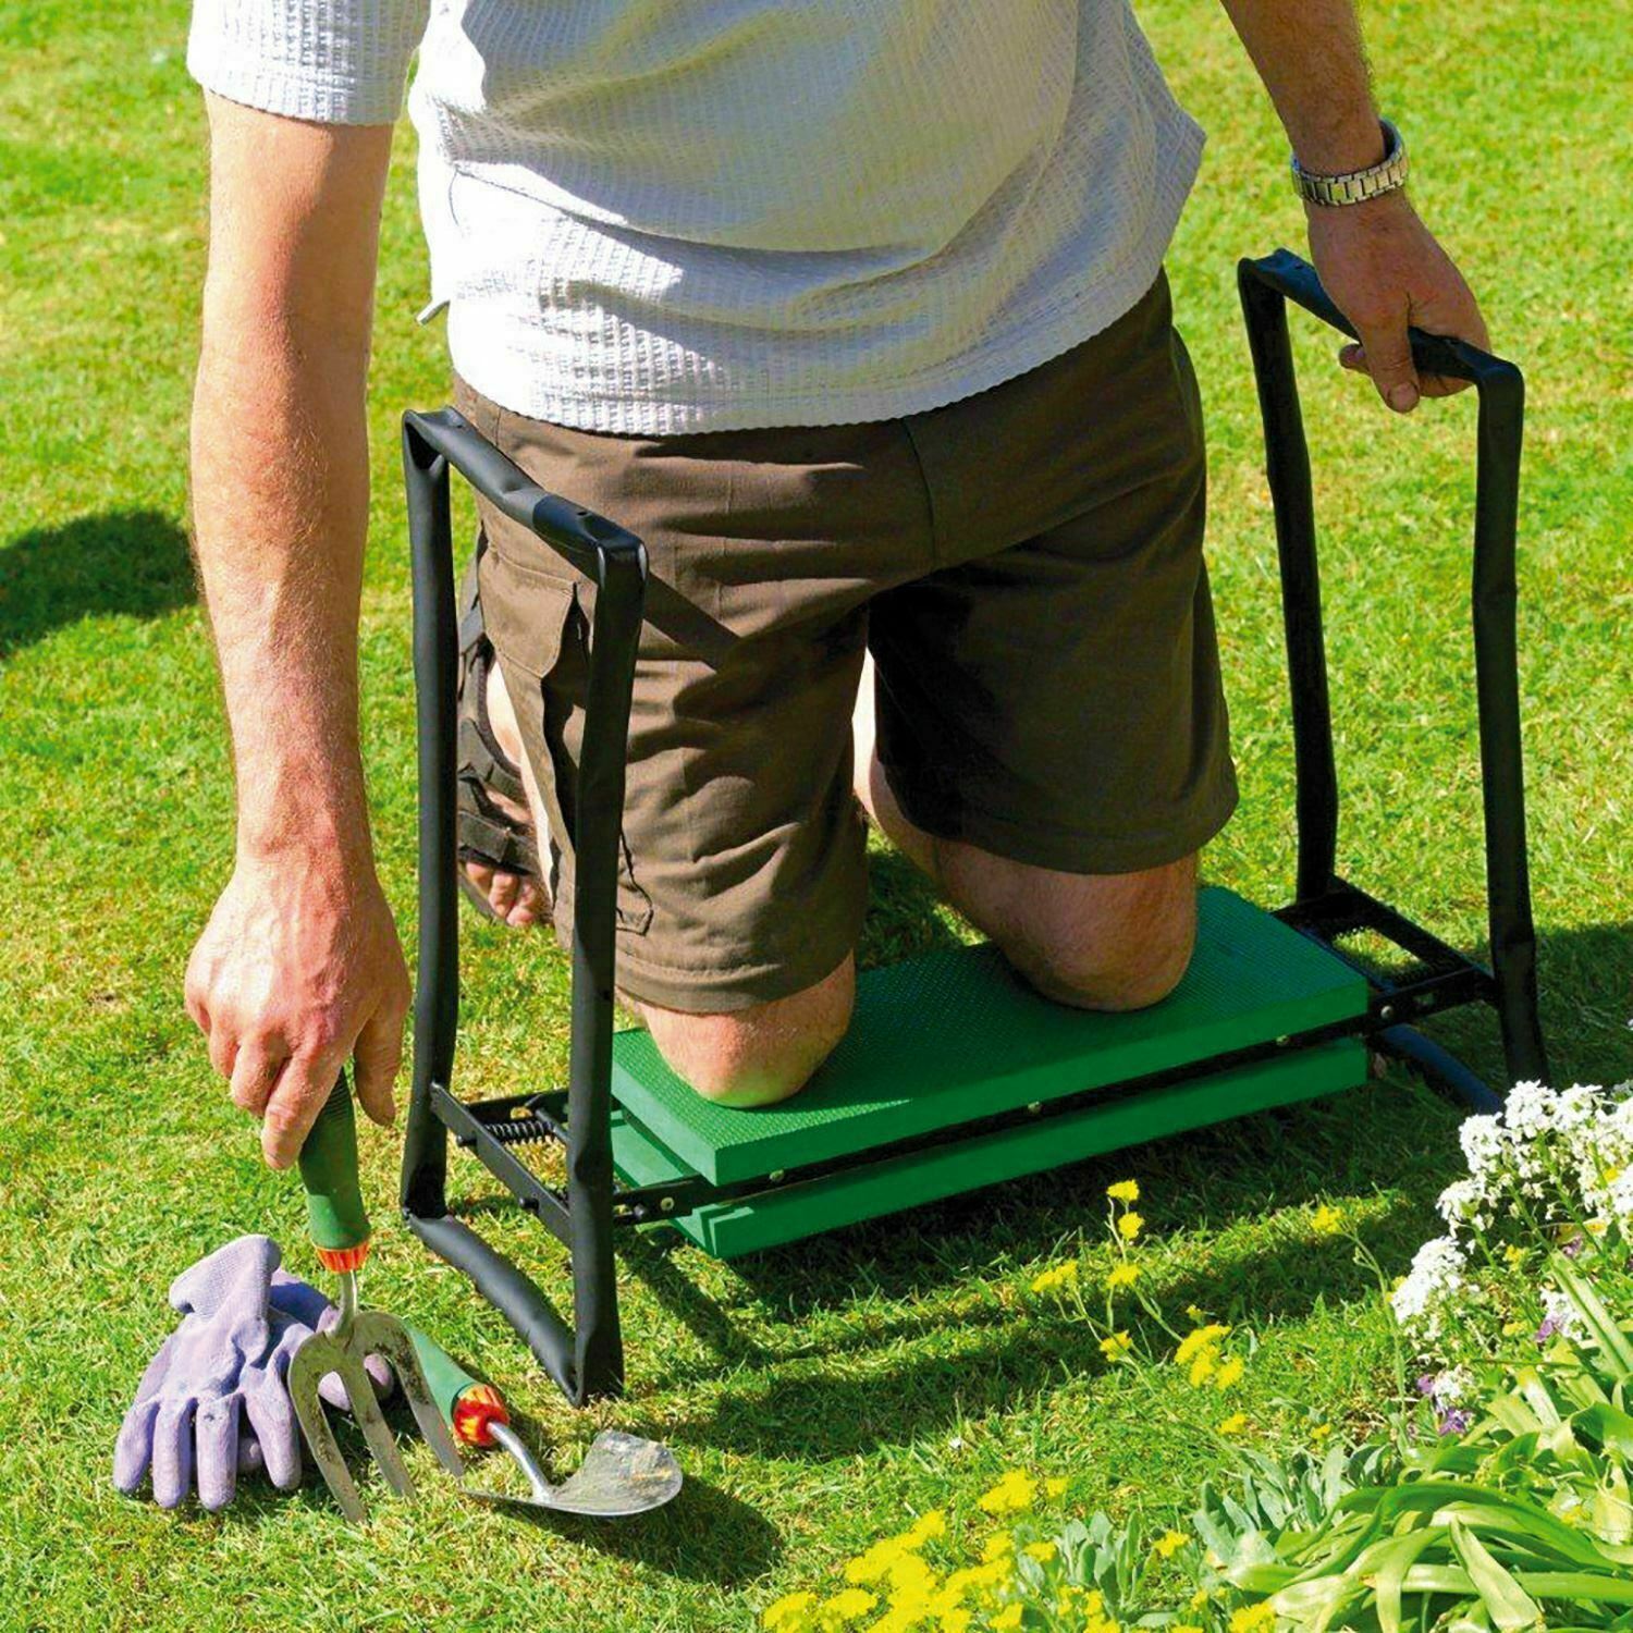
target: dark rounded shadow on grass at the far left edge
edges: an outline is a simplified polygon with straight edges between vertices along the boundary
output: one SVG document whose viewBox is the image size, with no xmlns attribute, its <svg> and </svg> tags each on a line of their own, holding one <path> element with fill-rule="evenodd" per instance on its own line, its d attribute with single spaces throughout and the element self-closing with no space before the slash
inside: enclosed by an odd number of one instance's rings
<svg viewBox="0 0 1633 1633">
<path fill-rule="evenodd" d="M 160 511 L 23 532 L 0 547 L 0 660 L 82 617 L 160 617 L 196 598 L 188 537 Z"/>
</svg>

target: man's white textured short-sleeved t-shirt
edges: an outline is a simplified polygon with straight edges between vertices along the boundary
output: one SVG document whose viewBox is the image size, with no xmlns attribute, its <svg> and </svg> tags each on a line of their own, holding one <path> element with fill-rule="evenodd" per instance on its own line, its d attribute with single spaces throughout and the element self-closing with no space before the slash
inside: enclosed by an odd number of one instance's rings
<svg viewBox="0 0 1633 1633">
<path fill-rule="evenodd" d="M 1202 132 L 1127 0 L 198 0 L 232 101 L 392 121 L 454 366 L 673 434 L 934 408 L 1146 291 Z"/>
</svg>

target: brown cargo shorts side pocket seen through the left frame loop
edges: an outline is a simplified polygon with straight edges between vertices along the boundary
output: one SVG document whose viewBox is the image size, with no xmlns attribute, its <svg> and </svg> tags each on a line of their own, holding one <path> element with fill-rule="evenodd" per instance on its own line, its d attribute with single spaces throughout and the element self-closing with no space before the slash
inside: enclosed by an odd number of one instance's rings
<svg viewBox="0 0 1633 1633">
<path fill-rule="evenodd" d="M 537 552 L 547 547 L 527 537 Z M 573 834 L 578 831 L 578 764 L 590 689 L 590 614 L 593 588 L 576 578 L 518 560 L 483 519 L 477 568 L 482 619 L 498 653 L 523 746 L 532 764 L 550 821 L 550 893 L 557 929 L 572 923 Z M 531 552 L 529 552 L 531 554 Z M 554 562 L 554 557 L 552 557 Z M 652 897 L 635 877 L 629 834 L 619 825 L 617 928 L 643 936 L 652 926 Z"/>
</svg>

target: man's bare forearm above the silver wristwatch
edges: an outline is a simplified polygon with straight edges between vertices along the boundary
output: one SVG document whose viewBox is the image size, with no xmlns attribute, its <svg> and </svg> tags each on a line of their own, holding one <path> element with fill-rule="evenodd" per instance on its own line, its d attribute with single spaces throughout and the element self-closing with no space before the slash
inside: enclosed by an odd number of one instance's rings
<svg viewBox="0 0 1633 1633">
<path fill-rule="evenodd" d="M 1321 175 L 1383 157 L 1352 0 L 1223 0 L 1298 162 Z"/>
</svg>

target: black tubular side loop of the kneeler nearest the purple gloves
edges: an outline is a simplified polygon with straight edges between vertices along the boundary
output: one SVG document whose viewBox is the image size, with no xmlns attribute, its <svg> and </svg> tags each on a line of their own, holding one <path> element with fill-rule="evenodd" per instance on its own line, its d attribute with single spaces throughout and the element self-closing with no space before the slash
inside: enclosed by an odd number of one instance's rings
<svg viewBox="0 0 1633 1633">
<path fill-rule="evenodd" d="M 447 1092 L 459 1029 L 457 665 L 449 465 L 596 585 L 590 696 L 573 833 L 572 1068 L 565 1228 L 573 1326 L 470 1226 L 447 1217 Z M 420 736 L 420 978 L 402 1207 L 410 1230 L 516 1328 L 575 1404 L 624 1382 L 612 1259 L 612 983 L 629 707 L 647 557 L 622 527 L 545 493 L 454 410 L 403 416 L 413 547 L 415 687 Z M 547 1199 L 541 1199 L 547 1200 Z M 560 1202 L 555 1202 L 560 1207 Z"/>
</svg>

